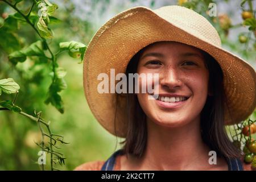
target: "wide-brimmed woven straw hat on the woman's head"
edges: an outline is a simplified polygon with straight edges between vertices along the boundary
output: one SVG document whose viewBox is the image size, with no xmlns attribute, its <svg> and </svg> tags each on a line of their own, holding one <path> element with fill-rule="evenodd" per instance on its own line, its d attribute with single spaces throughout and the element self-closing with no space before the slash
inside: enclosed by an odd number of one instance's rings
<svg viewBox="0 0 256 182">
<path fill-rule="evenodd" d="M 127 133 L 126 97 L 115 93 L 100 94 L 100 73 L 110 77 L 110 69 L 125 73 L 131 57 L 148 44 L 175 41 L 208 52 L 224 73 L 225 124 L 241 122 L 256 106 L 256 73 L 246 61 L 221 47 L 216 29 L 200 14 L 181 6 L 156 10 L 134 7 L 108 20 L 90 41 L 84 55 L 84 90 L 92 113 L 110 133 Z M 118 97 L 118 105 L 117 103 Z M 115 125 L 114 125 L 115 121 Z M 115 133 L 116 131 L 116 133 Z"/>
</svg>

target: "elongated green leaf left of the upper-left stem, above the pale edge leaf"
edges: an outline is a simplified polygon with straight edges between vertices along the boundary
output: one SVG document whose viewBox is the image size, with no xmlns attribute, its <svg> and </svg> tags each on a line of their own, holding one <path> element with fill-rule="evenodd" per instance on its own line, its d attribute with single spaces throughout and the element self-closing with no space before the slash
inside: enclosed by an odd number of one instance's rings
<svg viewBox="0 0 256 182">
<path fill-rule="evenodd" d="M 9 55 L 9 60 L 15 64 L 18 62 L 25 61 L 27 56 L 42 56 L 42 57 L 46 56 L 44 54 L 43 45 L 40 40 L 38 40 L 35 43 L 32 43 L 27 48 L 11 53 Z"/>
</svg>

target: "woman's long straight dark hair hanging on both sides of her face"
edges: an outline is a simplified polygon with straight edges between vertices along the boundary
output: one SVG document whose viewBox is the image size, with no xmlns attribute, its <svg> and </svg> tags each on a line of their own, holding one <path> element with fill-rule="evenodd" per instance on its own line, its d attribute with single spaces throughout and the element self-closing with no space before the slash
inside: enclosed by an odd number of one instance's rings
<svg viewBox="0 0 256 182">
<path fill-rule="evenodd" d="M 150 46 L 150 45 L 148 45 Z M 139 57 L 146 47 L 137 52 L 130 60 L 126 68 L 126 76 L 136 73 Z M 207 101 L 200 115 L 201 137 L 210 150 L 216 151 L 218 156 L 224 158 L 238 158 L 240 150 L 229 140 L 224 126 L 224 103 L 226 100 L 223 73 L 217 61 L 207 52 L 202 51 L 205 57 L 205 66 L 209 70 L 209 89 L 212 96 Z M 129 85 L 127 84 L 127 89 Z M 127 118 L 128 128 L 123 152 L 134 156 L 142 156 L 147 144 L 146 114 L 138 102 L 134 93 L 127 93 Z"/>
</svg>

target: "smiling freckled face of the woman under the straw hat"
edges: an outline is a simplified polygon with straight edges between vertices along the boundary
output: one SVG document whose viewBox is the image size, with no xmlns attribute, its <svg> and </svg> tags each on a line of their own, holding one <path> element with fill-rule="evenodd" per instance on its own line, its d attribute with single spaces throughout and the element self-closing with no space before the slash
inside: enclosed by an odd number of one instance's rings
<svg viewBox="0 0 256 182">
<path fill-rule="evenodd" d="M 137 94 L 139 104 L 151 121 L 180 127 L 199 119 L 207 100 L 209 80 L 199 49 L 177 42 L 154 43 L 144 49 L 137 72 L 159 73 L 157 99 L 149 100 L 149 93 Z"/>
</svg>

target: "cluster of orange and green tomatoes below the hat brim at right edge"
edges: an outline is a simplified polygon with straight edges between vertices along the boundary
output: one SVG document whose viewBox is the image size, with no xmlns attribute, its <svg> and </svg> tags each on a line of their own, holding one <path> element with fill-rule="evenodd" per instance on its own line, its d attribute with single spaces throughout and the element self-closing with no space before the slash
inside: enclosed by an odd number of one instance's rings
<svg viewBox="0 0 256 182">
<path fill-rule="evenodd" d="M 256 125 L 254 123 L 250 126 L 243 127 L 242 134 L 246 137 L 254 133 L 256 133 Z M 246 140 L 245 146 L 243 147 L 244 161 L 251 163 L 251 167 L 256 170 L 256 141 L 249 138 Z"/>
</svg>

